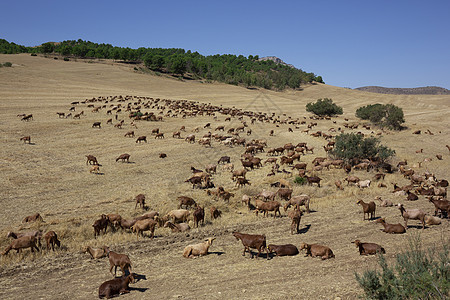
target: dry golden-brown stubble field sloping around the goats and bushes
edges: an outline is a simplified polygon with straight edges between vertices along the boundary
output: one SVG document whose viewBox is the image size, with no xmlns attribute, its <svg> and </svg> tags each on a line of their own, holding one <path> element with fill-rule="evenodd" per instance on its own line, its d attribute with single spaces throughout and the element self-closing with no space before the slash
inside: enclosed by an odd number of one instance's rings
<svg viewBox="0 0 450 300">
<path fill-rule="evenodd" d="M 355 281 L 354 272 L 362 272 L 377 265 L 377 258 L 360 256 L 351 241 L 381 244 L 386 249 L 388 261 L 393 261 L 408 244 L 411 236 L 420 235 L 424 245 L 448 243 L 449 221 L 442 225 L 419 228 L 419 222 L 410 221 L 404 235 L 389 235 L 381 232 L 382 226 L 373 221 L 363 221 L 357 199 L 373 200 L 381 196 L 394 203 L 403 203 L 406 208 L 421 208 L 433 213 L 434 206 L 420 196 L 418 201 L 408 202 L 406 197 L 393 196 L 392 184 L 408 184 L 399 173 L 387 174 L 384 182 L 388 188 L 373 184 L 369 189 L 345 186 L 336 189 L 334 181 L 344 179 L 343 170 L 318 172 L 323 178 L 320 188 L 295 186 L 294 194 L 306 193 L 312 198 L 310 214 L 301 220 L 301 233 L 291 235 L 290 219 L 282 210 L 281 218 L 264 218 L 248 212 L 241 203 L 244 193 L 256 195 L 281 175 L 266 177 L 271 166 L 248 173 L 251 186 L 237 189 L 230 173 L 220 170 L 213 176 L 216 186 L 223 186 L 235 193 L 230 203 L 214 201 L 205 190 L 192 189 L 184 181 L 191 176 L 190 167 L 204 169 L 205 165 L 217 163 L 223 156 L 231 157 L 240 167 L 241 146 L 229 148 L 213 142 L 211 148 L 188 144 L 183 139 L 172 138 L 172 132 L 182 125 L 192 133 L 200 126 L 197 137 L 208 132 L 203 126 L 211 123 L 211 130 L 219 125 L 225 129 L 241 125 L 233 118 L 225 122 L 218 115 L 192 118 L 168 118 L 163 122 L 137 122 L 130 126 L 128 113 L 122 111 L 123 129 L 106 124 L 111 116 L 107 109 L 94 113 L 87 105 L 76 106 L 75 112 L 84 110 L 81 119 L 58 118 L 57 112 L 69 113 L 70 103 L 93 97 L 132 95 L 161 99 L 192 100 L 223 107 L 261 111 L 280 115 L 281 119 L 308 116 L 307 102 L 318 98 L 332 98 L 344 108 L 344 115 L 332 121 L 319 121 L 314 131 L 327 131 L 330 127 L 342 127 L 344 118 L 357 122 L 355 110 L 367 104 L 393 103 L 403 108 L 407 130 L 388 131 L 381 141 L 396 151 L 393 163 L 407 159 L 408 165 L 424 162 L 417 173 L 433 172 L 440 179 L 449 179 L 450 144 L 450 96 L 406 96 L 382 95 L 353 91 L 328 85 L 310 85 L 302 91 L 275 92 L 262 89 L 245 89 L 217 83 L 181 81 L 164 76 L 151 76 L 133 70 L 133 66 L 114 64 L 111 61 L 89 62 L 54 60 L 31 57 L 28 54 L 0 55 L 0 62 L 12 62 L 13 67 L 0 69 L 0 248 L 7 247 L 8 231 L 42 229 L 57 232 L 62 248 L 55 252 L 40 251 L 31 254 L 29 249 L 22 254 L 10 252 L 0 258 L 1 299 L 93 299 L 98 296 L 99 285 L 111 279 L 107 259 L 92 260 L 81 253 L 86 245 L 108 245 L 119 253 L 127 253 L 133 262 L 133 271 L 142 275 L 133 284 L 130 294 L 123 299 L 355 299 L 362 290 Z M 132 102 L 132 101 L 130 101 Z M 97 106 L 98 103 L 95 103 Z M 157 110 L 144 109 L 143 111 Z M 32 121 L 21 121 L 18 114 L 33 114 Z M 114 115 L 112 116 L 114 117 Z M 113 119 L 113 124 L 118 121 Z M 244 118 L 250 124 L 248 118 Z M 102 128 L 92 128 L 93 122 L 102 122 Z M 309 121 L 309 119 L 307 120 Z M 288 142 L 307 142 L 315 147 L 315 154 L 302 156 L 310 163 L 316 156 L 325 156 L 322 148 L 326 141 L 314 138 L 300 129 L 288 132 L 289 125 L 256 123 L 249 125 L 253 133 L 250 138 L 266 139 L 268 147 L 283 146 Z M 152 129 L 159 128 L 164 139 L 155 139 Z M 414 135 L 414 130 L 422 130 Z M 430 130 L 433 135 L 424 134 Z M 148 143 L 136 143 L 136 138 L 124 134 L 134 130 L 136 136 L 146 135 Z M 274 136 L 269 131 L 274 130 Z M 379 131 L 379 130 L 375 130 Z M 370 131 L 363 130 L 370 134 Z M 19 139 L 31 136 L 31 144 Z M 423 149 L 423 153 L 416 150 Z M 159 158 L 164 152 L 167 158 Z M 116 162 L 122 153 L 129 153 L 130 163 Z M 98 158 L 101 174 L 89 173 L 86 155 Z M 443 160 L 437 160 L 442 154 Z M 263 160 L 265 153 L 258 154 Z M 309 164 L 310 166 L 310 164 Z M 310 167 L 309 167 L 310 168 Z M 372 179 L 374 171 L 352 171 L 361 179 Z M 293 180 L 293 178 L 289 178 Z M 125 218 L 142 214 L 134 209 L 133 198 L 143 193 L 147 205 L 161 215 L 176 209 L 176 198 L 180 195 L 193 197 L 205 206 L 206 222 L 193 228 L 189 234 L 172 233 L 167 228 L 157 228 L 156 237 L 139 238 L 128 232 L 111 232 L 94 238 L 92 223 L 102 213 L 118 213 Z M 217 220 L 209 217 L 209 208 L 218 207 L 223 215 Z M 39 212 L 44 221 L 24 225 L 25 216 Z M 377 217 L 386 217 L 390 223 L 403 223 L 395 207 L 377 207 Z M 274 257 L 250 259 L 242 256 L 243 246 L 231 235 L 233 231 L 265 234 L 268 243 L 302 242 L 320 243 L 329 246 L 336 255 L 330 260 L 304 257 Z M 184 247 L 191 243 L 216 237 L 210 255 L 198 259 L 182 257 Z"/>
</svg>

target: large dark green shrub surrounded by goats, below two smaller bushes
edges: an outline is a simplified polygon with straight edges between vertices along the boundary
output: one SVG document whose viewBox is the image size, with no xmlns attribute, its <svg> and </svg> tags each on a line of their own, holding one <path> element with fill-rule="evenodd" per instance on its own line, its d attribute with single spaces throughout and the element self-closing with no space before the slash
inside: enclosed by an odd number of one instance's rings
<svg viewBox="0 0 450 300">
<path fill-rule="evenodd" d="M 356 133 L 342 133 L 336 137 L 335 147 L 330 154 L 346 162 L 350 162 L 354 158 L 384 162 L 394 156 L 395 151 L 380 145 L 377 138 L 364 138 Z"/>
</svg>

